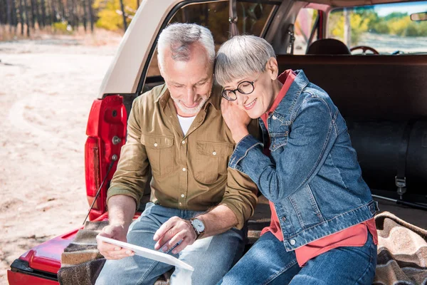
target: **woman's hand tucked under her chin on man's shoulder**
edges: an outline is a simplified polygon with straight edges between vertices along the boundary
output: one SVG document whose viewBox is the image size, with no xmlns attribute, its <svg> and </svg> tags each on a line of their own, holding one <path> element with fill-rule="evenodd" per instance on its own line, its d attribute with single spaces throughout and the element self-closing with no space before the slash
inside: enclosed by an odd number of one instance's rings
<svg viewBox="0 0 427 285">
<path fill-rule="evenodd" d="M 251 122 L 248 114 L 238 108 L 236 104 L 224 98 L 221 99 L 221 112 L 228 128 L 231 130 L 234 142 L 240 142 L 249 135 L 248 125 Z"/>
</svg>

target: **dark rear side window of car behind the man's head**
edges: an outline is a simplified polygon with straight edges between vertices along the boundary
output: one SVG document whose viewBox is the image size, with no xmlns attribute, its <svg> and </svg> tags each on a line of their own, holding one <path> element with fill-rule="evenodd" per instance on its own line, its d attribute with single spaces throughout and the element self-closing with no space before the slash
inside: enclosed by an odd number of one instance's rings
<svg viewBox="0 0 427 285">
<path fill-rule="evenodd" d="M 260 4 L 238 1 L 238 31 L 243 34 L 253 34 L 263 36 L 264 28 L 277 5 Z M 189 4 L 176 12 L 169 21 L 172 23 L 196 23 L 209 28 L 214 36 L 216 50 L 228 39 L 230 33 L 228 28 L 228 1 L 216 3 Z M 159 76 L 159 67 L 157 66 L 157 51 L 152 56 L 147 76 Z"/>
</svg>

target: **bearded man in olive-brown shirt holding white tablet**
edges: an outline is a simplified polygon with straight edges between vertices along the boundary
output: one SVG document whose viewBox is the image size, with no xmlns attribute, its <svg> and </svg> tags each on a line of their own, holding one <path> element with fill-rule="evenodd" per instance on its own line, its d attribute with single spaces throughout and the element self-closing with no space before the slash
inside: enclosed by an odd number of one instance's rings
<svg viewBox="0 0 427 285">
<path fill-rule="evenodd" d="M 221 116 L 219 90 L 211 95 L 211 32 L 172 24 L 159 36 L 158 54 L 165 84 L 132 105 L 107 195 L 110 225 L 101 235 L 161 249 L 194 266 L 192 284 L 216 284 L 241 257 L 257 188 L 227 167 L 233 136 Z M 149 167 L 154 197 L 132 222 Z M 96 284 L 154 284 L 172 269 L 105 242 L 98 249 L 107 261 Z M 189 284 L 188 275 L 176 268 L 171 282 Z"/>
</svg>

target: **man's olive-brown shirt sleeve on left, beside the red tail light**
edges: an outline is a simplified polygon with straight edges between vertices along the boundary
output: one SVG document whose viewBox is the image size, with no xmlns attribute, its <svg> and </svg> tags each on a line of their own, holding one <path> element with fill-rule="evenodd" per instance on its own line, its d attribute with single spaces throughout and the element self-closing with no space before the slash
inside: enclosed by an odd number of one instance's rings
<svg viewBox="0 0 427 285">
<path fill-rule="evenodd" d="M 141 143 L 141 106 L 140 100 L 132 103 L 127 120 L 127 140 L 120 150 L 120 160 L 107 192 L 107 202 L 115 195 L 126 195 L 139 201 L 144 195 L 144 187 L 149 177 L 149 162 L 145 146 Z"/>
</svg>

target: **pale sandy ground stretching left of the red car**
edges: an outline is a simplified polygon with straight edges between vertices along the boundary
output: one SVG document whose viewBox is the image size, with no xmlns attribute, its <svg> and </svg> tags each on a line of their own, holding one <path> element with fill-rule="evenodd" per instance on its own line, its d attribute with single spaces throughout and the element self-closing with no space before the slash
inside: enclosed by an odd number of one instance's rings
<svg viewBox="0 0 427 285">
<path fill-rule="evenodd" d="M 0 284 L 14 259 L 87 214 L 85 128 L 120 42 L 97 37 L 0 42 Z"/>
</svg>

